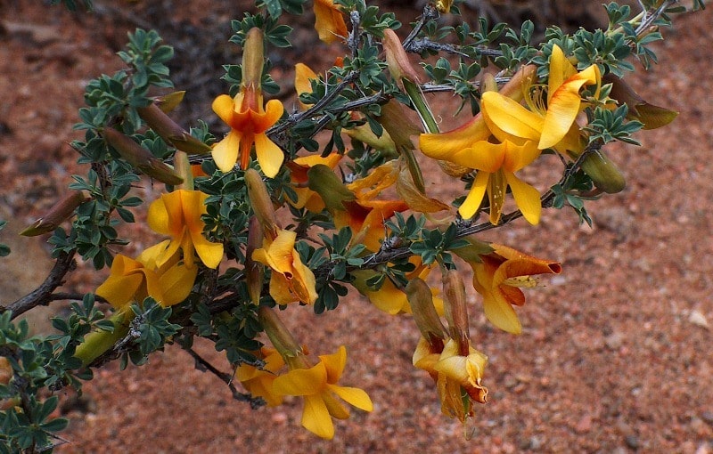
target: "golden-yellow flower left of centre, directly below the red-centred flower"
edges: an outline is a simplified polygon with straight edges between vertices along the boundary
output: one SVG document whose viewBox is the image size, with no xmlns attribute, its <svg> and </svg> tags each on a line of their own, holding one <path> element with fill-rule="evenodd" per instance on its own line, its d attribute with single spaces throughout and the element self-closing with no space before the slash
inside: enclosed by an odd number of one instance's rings
<svg viewBox="0 0 713 454">
<path fill-rule="evenodd" d="M 223 258 L 223 245 L 211 243 L 203 236 L 208 195 L 201 191 L 177 190 L 161 194 L 149 207 L 149 227 L 157 233 L 168 235 L 170 240 L 160 243 L 164 248 L 155 257 L 157 266 L 168 262 L 180 247 L 186 266 L 193 267 L 193 251 L 209 268 L 217 268 Z"/>
</svg>

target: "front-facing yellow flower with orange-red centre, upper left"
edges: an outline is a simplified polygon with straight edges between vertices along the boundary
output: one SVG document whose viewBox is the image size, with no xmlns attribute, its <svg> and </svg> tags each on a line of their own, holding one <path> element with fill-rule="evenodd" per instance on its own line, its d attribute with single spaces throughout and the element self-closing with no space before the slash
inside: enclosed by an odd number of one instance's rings
<svg viewBox="0 0 713 454">
<path fill-rule="evenodd" d="M 230 132 L 213 147 L 213 159 L 221 172 L 230 172 L 240 157 L 244 170 L 250 163 L 250 150 L 255 144 L 258 163 L 264 174 L 274 177 L 283 165 L 284 153 L 265 134 L 283 116 L 283 103 L 267 101 L 263 108 L 262 93 L 253 86 L 242 87 L 231 98 L 221 94 L 213 101 L 213 111 L 230 126 Z"/>
</svg>

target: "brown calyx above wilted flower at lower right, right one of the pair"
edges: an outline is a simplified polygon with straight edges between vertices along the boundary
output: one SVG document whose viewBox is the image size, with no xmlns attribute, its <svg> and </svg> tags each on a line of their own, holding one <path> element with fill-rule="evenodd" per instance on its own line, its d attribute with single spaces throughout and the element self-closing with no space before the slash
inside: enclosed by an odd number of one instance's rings
<svg viewBox="0 0 713 454">
<path fill-rule="evenodd" d="M 465 285 L 457 270 L 448 270 L 443 275 L 444 314 L 448 322 L 448 333 L 458 344 L 458 353 L 470 353 L 471 333 L 468 325 L 468 307 Z"/>
</svg>

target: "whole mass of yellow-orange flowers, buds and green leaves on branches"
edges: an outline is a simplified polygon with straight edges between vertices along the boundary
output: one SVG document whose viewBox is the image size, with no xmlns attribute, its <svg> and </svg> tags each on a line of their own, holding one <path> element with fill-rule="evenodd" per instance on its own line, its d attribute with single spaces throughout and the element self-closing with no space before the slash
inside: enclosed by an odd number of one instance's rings
<svg viewBox="0 0 713 454">
<path fill-rule="evenodd" d="M 482 336 L 471 337 L 469 312 L 520 334 L 522 289 L 561 272 L 558 261 L 480 235 L 520 216 L 537 224 L 547 207 L 570 206 L 587 221 L 585 200 L 623 189 L 623 174 L 602 147 L 635 142 L 638 129 L 676 117 L 623 79 L 624 58 L 649 55 L 654 33 L 642 18 L 661 12 L 627 19 L 627 9 L 609 4 L 607 30 L 548 30 L 537 48 L 528 26 L 503 36 L 497 27 L 440 28 L 438 12 L 457 12 L 451 1 L 427 6 L 401 41 L 397 20 L 375 6 L 315 0 L 315 45 L 345 55 L 319 71 L 299 62 L 294 93 L 291 86 L 278 92 L 265 47 L 290 45 L 287 21 L 278 19 L 303 12 L 302 3 L 260 2 L 262 15 L 232 23 L 242 61 L 225 65 L 233 85 L 212 101 L 213 119 L 222 121 L 217 134 L 208 123 L 187 131 L 168 117 L 183 93 L 153 96 L 172 83 L 164 64 L 171 52 L 152 33 L 137 31 L 120 53 L 130 70 L 89 84 L 78 126 L 86 142 L 73 147 L 92 169 L 23 231 L 54 230 L 55 252 L 68 263 L 78 254 L 97 269 L 111 264 L 95 295 L 114 314 L 98 322 L 94 296 L 87 297 L 79 321 L 59 324 L 68 333 L 63 352 L 82 368 L 117 356 L 111 353 L 142 363 L 173 339 L 200 358 L 193 338 L 205 337 L 225 351 L 234 374 L 206 369 L 232 389 L 242 385 L 254 405 L 301 398 L 302 426 L 332 439 L 332 418 L 349 417 L 344 402 L 364 411 L 373 402 L 340 385 L 346 346 L 313 357 L 288 326 L 295 312 L 328 312 L 354 291 L 384 317 L 414 321 L 421 336 L 414 336 L 413 366 L 433 380 L 441 412 L 465 424 L 488 398 L 488 356 L 473 342 Z M 434 36 L 453 30 L 460 44 L 436 43 Z M 444 51 L 457 67 L 447 59 L 417 67 L 409 54 Z M 497 73 L 480 72 L 485 63 Z M 472 115 L 447 132 L 426 93 L 444 90 L 470 104 Z M 279 100 L 266 100 L 275 93 Z M 286 93 L 296 96 L 288 101 Z M 545 155 L 561 170 L 559 181 L 537 174 L 533 164 Z M 145 217 L 165 239 L 131 258 L 117 251 L 126 241 L 114 225 L 134 222 L 128 208 L 142 203 L 134 195 L 140 175 L 146 191 L 166 185 Z M 454 197 L 438 187 L 443 182 L 459 185 Z M 60 225 L 73 215 L 65 234 Z M 487 220 L 479 222 L 481 215 Z M 50 301 L 43 298 L 37 301 Z M 67 383 L 65 373 L 47 383 Z"/>
</svg>

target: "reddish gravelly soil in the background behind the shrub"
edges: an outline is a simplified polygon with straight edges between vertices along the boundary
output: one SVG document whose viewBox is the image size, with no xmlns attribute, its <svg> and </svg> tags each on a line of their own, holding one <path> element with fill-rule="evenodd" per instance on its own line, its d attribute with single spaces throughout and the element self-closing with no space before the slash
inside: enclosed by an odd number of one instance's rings
<svg viewBox="0 0 713 454">
<path fill-rule="evenodd" d="M 191 14 L 201 14 L 209 2 L 191 4 Z M 489 356 L 490 393 L 470 441 L 440 415 L 430 377 L 411 365 L 413 321 L 385 316 L 355 294 L 326 315 L 288 312 L 312 352 L 348 346 L 342 384 L 364 388 L 374 401 L 372 413 L 338 422 L 333 441 L 299 426 L 301 401 L 251 410 L 171 346 L 141 368 L 96 371 L 84 387 L 86 406 L 66 407 L 70 427 L 61 436 L 70 442 L 57 451 L 710 452 L 713 166 L 704 154 L 713 149 L 711 17 L 676 17 L 656 46 L 660 64 L 630 77 L 645 99 L 681 114 L 671 127 L 640 134 L 642 147 L 609 149 L 627 190 L 588 205 L 594 229 L 580 227 L 572 212 L 548 211 L 537 228 L 520 221 L 488 235 L 559 260 L 564 271 L 527 290 L 521 336 L 491 328 L 471 292 L 472 340 Z M 64 191 L 70 174 L 84 171 L 66 142 L 78 137 L 71 126 L 86 82 L 119 69 L 114 52 L 129 27 L 112 25 L 108 12 L 93 18 L 39 2 L 0 3 L 0 20 L 0 205 L 26 224 Z M 310 59 L 318 61 L 315 53 Z M 279 69 L 275 77 L 283 77 Z M 211 100 L 202 101 L 209 118 Z M 136 228 L 132 238 L 143 234 Z M 29 241 L 13 243 L 14 252 Z M 31 260 L 29 270 L 49 263 Z M 35 279 L 43 278 L 38 271 Z M 100 280 L 80 266 L 70 287 L 88 291 Z M 12 285 L 4 282 L 3 293 Z M 228 370 L 211 345 L 198 347 Z"/>
</svg>

